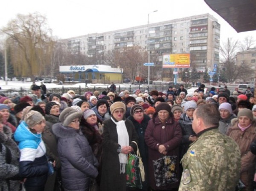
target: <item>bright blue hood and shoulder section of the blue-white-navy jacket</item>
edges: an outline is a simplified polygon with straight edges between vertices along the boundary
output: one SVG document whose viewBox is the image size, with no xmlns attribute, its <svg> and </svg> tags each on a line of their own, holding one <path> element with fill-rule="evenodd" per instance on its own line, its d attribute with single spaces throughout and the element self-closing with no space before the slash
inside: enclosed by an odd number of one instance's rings
<svg viewBox="0 0 256 191">
<path fill-rule="evenodd" d="M 17 127 L 14 133 L 14 138 L 17 142 L 22 142 L 24 140 L 35 140 L 38 144 L 41 141 L 41 134 L 34 134 L 29 130 L 28 125 L 25 121 L 22 121 Z"/>
</svg>

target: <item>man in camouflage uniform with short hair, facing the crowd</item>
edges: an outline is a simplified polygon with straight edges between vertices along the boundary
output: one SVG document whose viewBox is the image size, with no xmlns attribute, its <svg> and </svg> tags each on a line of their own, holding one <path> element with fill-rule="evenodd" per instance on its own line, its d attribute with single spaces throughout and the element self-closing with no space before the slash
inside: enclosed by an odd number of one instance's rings
<svg viewBox="0 0 256 191">
<path fill-rule="evenodd" d="M 179 191 L 234 191 L 239 182 L 240 150 L 218 131 L 220 114 L 214 104 L 199 105 L 192 128 L 198 140 L 182 159 Z"/>
</svg>

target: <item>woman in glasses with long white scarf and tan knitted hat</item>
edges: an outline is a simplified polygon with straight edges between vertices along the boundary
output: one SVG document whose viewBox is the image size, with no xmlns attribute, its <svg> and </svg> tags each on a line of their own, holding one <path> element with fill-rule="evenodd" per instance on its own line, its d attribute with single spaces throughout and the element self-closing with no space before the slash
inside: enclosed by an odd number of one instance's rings
<svg viewBox="0 0 256 191">
<path fill-rule="evenodd" d="M 111 119 L 105 120 L 101 191 L 126 191 L 125 165 L 127 154 L 136 151 L 138 135 L 130 120 L 125 120 L 125 104 L 115 102 L 110 107 Z"/>
</svg>

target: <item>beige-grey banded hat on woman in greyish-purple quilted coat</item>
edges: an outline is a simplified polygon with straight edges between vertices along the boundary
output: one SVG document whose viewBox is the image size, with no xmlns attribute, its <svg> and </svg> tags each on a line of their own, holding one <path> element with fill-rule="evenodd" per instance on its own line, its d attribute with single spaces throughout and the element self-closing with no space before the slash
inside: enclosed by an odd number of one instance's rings
<svg viewBox="0 0 256 191">
<path fill-rule="evenodd" d="M 82 117 L 82 112 L 76 111 L 74 108 L 65 108 L 60 116 L 59 116 L 59 120 L 61 121 L 62 125 L 64 127 L 67 127 L 72 120 L 76 119 L 76 118 L 81 118 Z"/>
</svg>

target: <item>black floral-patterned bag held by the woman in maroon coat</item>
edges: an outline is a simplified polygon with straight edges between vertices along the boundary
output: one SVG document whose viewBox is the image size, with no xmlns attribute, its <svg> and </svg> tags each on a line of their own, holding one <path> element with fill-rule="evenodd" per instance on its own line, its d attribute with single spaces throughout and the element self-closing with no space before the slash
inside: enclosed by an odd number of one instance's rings
<svg viewBox="0 0 256 191">
<path fill-rule="evenodd" d="M 178 181 L 175 165 L 177 156 L 164 156 L 153 160 L 156 186 L 166 186 Z"/>
</svg>

